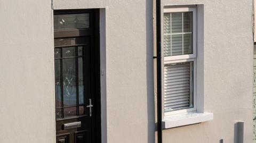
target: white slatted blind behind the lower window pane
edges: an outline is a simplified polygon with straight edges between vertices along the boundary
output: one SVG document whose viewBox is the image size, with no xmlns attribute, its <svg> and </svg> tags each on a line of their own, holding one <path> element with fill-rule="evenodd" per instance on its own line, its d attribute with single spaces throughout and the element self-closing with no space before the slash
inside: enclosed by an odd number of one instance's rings
<svg viewBox="0 0 256 143">
<path fill-rule="evenodd" d="M 193 62 L 164 66 L 164 111 L 193 107 Z"/>
</svg>

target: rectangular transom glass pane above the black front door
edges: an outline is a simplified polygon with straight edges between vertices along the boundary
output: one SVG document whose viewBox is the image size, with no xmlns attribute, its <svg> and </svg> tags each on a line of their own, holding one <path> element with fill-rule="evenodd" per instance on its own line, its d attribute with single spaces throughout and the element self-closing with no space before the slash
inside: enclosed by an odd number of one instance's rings
<svg viewBox="0 0 256 143">
<path fill-rule="evenodd" d="M 89 17 L 89 13 L 54 15 L 54 30 L 89 28 Z"/>
</svg>

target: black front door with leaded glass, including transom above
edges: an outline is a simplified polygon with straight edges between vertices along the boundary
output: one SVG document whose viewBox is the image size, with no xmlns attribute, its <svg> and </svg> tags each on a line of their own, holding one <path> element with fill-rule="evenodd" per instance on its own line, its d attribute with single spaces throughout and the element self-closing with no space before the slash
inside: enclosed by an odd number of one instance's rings
<svg viewBox="0 0 256 143">
<path fill-rule="evenodd" d="M 54 13 L 56 141 L 95 142 L 93 12 Z"/>
</svg>

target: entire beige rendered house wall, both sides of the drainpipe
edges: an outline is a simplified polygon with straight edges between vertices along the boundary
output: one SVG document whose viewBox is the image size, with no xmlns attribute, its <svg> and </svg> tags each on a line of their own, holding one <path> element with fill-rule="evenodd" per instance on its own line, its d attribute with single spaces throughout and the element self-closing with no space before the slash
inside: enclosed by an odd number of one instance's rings
<svg viewBox="0 0 256 143">
<path fill-rule="evenodd" d="M 0 1 L 0 142 L 54 142 L 52 9 L 106 14 L 107 140 L 154 142 L 153 4 L 149 0 Z M 214 120 L 163 131 L 164 142 L 234 142 L 235 121 L 252 139 L 251 1 L 204 4 L 204 106 Z M 102 32 L 102 31 L 101 31 Z M 104 136 L 104 135 L 103 135 Z"/>
</svg>

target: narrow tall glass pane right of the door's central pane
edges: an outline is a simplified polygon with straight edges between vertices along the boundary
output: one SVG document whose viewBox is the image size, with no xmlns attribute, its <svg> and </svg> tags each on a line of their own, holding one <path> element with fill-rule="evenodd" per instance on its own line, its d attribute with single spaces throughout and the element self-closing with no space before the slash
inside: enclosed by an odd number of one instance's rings
<svg viewBox="0 0 256 143">
<path fill-rule="evenodd" d="M 79 49 L 78 49 L 79 52 Z M 83 58 L 78 58 L 78 91 L 79 91 L 79 104 L 84 103 L 84 69 L 83 69 Z"/>
</svg>

